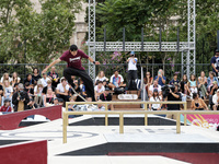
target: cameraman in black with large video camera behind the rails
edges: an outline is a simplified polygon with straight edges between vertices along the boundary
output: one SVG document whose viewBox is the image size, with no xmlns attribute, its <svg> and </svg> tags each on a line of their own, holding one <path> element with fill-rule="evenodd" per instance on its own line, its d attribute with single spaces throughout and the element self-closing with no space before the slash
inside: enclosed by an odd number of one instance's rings
<svg viewBox="0 0 219 164">
<path fill-rule="evenodd" d="M 173 85 L 173 89 L 169 89 L 170 93 L 165 97 L 165 101 L 181 101 L 181 93 L 178 92 L 178 85 Z M 173 91 L 172 91 L 173 90 Z M 168 104 L 168 110 L 180 110 L 180 104 Z M 168 114 L 168 118 L 176 119 L 176 115 Z"/>
</svg>

